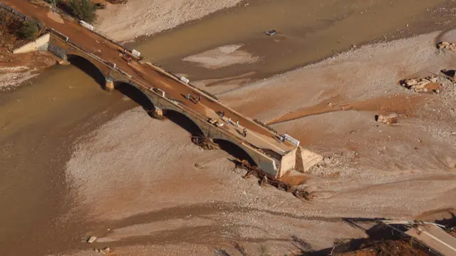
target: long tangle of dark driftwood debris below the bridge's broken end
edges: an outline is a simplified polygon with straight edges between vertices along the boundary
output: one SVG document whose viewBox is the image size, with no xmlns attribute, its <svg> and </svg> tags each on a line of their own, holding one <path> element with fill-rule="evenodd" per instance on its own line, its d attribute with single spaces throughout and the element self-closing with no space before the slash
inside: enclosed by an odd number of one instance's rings
<svg viewBox="0 0 456 256">
<path fill-rule="evenodd" d="M 250 165 L 246 160 L 235 160 L 236 168 L 241 168 L 247 170 L 247 174 L 244 175 L 244 178 L 248 178 L 250 175 L 254 175 L 259 179 L 259 185 L 269 184 L 273 187 L 286 191 L 288 193 L 293 194 L 296 198 L 304 198 L 305 200 L 310 200 L 312 198 L 311 193 L 306 190 L 302 190 L 299 188 L 294 188 L 292 185 L 288 183 L 284 183 L 276 178 L 264 173 L 260 170 L 257 166 Z"/>
</svg>

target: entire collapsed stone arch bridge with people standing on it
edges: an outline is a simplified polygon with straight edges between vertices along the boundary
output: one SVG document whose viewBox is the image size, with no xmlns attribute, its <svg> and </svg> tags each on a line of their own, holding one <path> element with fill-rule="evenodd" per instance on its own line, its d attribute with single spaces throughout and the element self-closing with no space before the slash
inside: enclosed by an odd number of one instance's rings
<svg viewBox="0 0 456 256">
<path fill-rule="evenodd" d="M 1 1 L 12 11 L 36 19 L 46 27 L 46 34 L 17 49 L 16 53 L 50 51 L 62 62 L 75 56 L 83 58 L 103 74 L 106 90 L 113 91 L 119 83 L 133 86 L 153 104 L 155 116 L 162 116 L 167 111 L 182 114 L 199 128 L 201 135 L 236 145 L 249 155 L 249 160 L 274 177 L 281 177 L 294 168 L 306 169 L 321 160 L 320 155 L 299 147 L 299 142 L 292 138 L 287 137 L 288 140 L 282 142 L 282 135 L 273 129 L 225 106 L 215 96 L 192 86 L 185 78 L 148 63 L 131 51 L 123 56 L 123 46 L 68 17 L 56 21 L 48 16 L 48 9 L 26 0 Z M 242 135 L 244 129 L 247 130 L 245 137 Z"/>
</svg>

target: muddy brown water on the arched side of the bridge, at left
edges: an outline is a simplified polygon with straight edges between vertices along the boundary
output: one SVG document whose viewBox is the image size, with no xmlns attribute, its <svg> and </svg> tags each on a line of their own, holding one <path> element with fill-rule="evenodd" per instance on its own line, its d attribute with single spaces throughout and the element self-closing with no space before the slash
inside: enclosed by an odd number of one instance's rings
<svg viewBox="0 0 456 256">
<path fill-rule="evenodd" d="M 64 175 L 72 143 L 134 106 L 74 66 L 49 68 L 31 82 L 0 94 L 1 255 L 81 244 L 85 222 L 61 220 L 72 203 Z"/>
</svg>

